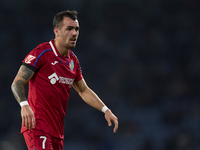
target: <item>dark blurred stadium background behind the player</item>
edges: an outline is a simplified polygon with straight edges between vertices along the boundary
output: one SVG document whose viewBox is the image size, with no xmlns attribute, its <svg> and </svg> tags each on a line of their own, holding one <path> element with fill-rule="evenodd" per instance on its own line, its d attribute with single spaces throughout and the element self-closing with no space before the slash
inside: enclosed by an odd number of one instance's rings
<svg viewBox="0 0 200 150">
<path fill-rule="evenodd" d="M 199 0 L 1 0 L 0 150 L 27 149 L 10 85 L 66 9 L 79 12 L 83 76 L 119 130 L 72 89 L 64 150 L 200 150 Z"/>
</svg>

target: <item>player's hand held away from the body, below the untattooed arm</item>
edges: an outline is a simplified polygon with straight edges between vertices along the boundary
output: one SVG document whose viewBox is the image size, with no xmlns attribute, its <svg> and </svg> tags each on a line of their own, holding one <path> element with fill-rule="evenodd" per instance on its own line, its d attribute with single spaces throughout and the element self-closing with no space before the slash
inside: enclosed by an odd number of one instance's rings
<svg viewBox="0 0 200 150">
<path fill-rule="evenodd" d="M 118 129 L 118 118 L 111 112 L 110 109 L 105 111 L 105 119 L 108 122 L 108 126 L 112 126 L 112 122 L 114 122 L 115 127 L 113 129 L 113 132 L 116 133 Z"/>
</svg>

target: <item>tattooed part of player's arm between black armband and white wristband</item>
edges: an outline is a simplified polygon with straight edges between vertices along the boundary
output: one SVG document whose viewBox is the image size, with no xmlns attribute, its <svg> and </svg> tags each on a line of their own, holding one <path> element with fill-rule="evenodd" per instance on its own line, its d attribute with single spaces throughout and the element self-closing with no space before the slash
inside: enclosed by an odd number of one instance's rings
<svg viewBox="0 0 200 150">
<path fill-rule="evenodd" d="M 31 79 L 34 72 L 22 65 L 17 73 L 17 76 L 11 86 L 12 92 L 18 103 L 26 100 L 24 85 Z"/>
</svg>

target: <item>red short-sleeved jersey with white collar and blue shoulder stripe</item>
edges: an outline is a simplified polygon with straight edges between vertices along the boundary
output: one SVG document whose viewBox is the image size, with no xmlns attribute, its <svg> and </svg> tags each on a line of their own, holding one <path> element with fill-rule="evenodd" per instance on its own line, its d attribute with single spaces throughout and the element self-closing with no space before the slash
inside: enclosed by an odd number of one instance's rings
<svg viewBox="0 0 200 150">
<path fill-rule="evenodd" d="M 38 45 L 23 60 L 35 71 L 29 81 L 28 103 L 36 119 L 36 130 L 64 138 L 64 118 L 73 82 L 81 80 L 82 72 L 76 55 L 69 50 L 62 56 L 54 40 Z M 26 127 L 21 128 L 23 133 Z"/>
</svg>

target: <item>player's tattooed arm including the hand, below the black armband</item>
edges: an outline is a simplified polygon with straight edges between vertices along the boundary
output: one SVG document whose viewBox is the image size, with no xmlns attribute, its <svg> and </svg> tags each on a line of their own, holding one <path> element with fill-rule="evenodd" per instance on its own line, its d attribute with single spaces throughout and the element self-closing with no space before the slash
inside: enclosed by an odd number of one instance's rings
<svg viewBox="0 0 200 150">
<path fill-rule="evenodd" d="M 29 69 L 28 67 L 22 65 L 11 85 L 11 90 L 15 99 L 20 104 L 23 101 L 26 101 L 25 95 L 25 88 L 24 86 L 28 83 L 28 81 L 33 77 L 34 72 Z M 22 116 L 22 123 L 28 129 L 31 129 L 31 122 L 33 128 L 35 127 L 35 117 L 32 109 L 29 105 L 22 106 L 21 108 L 21 116 Z"/>
</svg>

